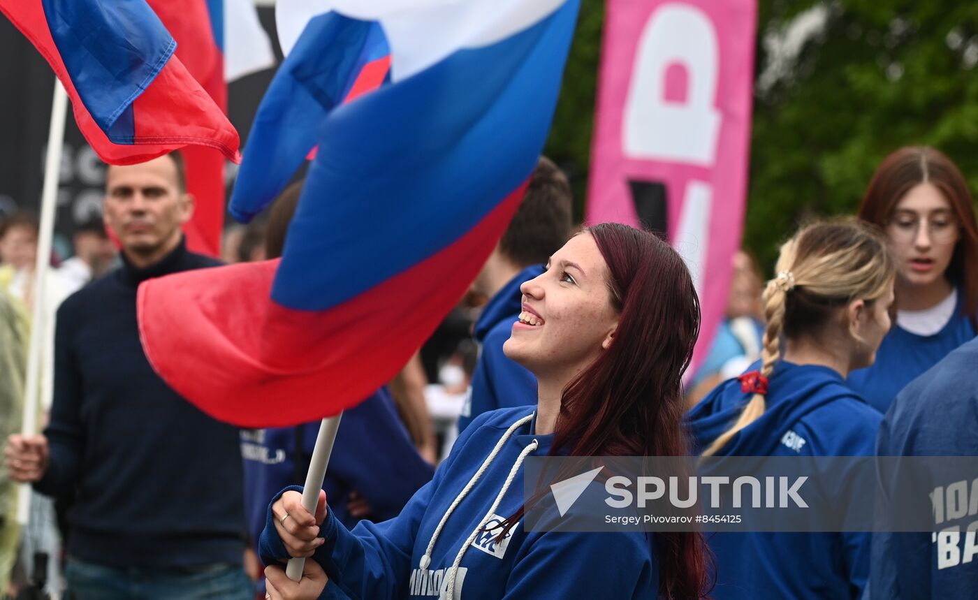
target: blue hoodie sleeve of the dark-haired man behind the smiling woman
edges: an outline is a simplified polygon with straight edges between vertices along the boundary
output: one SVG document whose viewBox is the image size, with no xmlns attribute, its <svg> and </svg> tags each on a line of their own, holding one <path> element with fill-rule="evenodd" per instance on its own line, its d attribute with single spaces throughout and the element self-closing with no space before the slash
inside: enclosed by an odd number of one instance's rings
<svg viewBox="0 0 978 600">
<path fill-rule="evenodd" d="M 510 328 L 509 323 L 502 324 L 493 327 L 482 342 L 482 352 L 472 373 L 468 416 L 459 419 L 460 432 L 466 430 L 472 419 L 490 410 L 537 404 L 536 377 L 503 354 Z"/>
</svg>

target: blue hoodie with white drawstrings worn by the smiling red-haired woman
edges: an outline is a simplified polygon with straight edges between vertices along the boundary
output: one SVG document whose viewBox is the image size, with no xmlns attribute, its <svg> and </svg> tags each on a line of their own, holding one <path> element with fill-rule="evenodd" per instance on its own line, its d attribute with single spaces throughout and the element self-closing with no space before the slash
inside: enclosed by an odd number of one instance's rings
<svg viewBox="0 0 978 600">
<path fill-rule="evenodd" d="M 553 435 L 533 435 L 534 426 L 533 407 L 480 415 L 398 517 L 362 522 L 348 531 L 328 514 L 321 528 L 326 543 L 313 558 L 351 598 L 657 597 L 651 534 L 526 532 L 519 523 L 501 542 L 495 539 L 499 532 L 490 531 L 467 543 L 486 516 L 490 524 L 502 521 L 522 505 L 522 462 L 526 456 L 548 454 L 553 443 Z M 484 472 L 474 478 L 484 463 Z M 266 564 L 287 557 L 273 518 L 269 505 L 261 536 Z"/>
</svg>

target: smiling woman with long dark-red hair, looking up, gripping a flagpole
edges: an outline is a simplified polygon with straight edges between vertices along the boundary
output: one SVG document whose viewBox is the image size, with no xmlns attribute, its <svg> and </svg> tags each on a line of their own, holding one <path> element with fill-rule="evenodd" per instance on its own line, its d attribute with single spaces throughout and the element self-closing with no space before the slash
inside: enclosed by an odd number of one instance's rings
<svg viewBox="0 0 978 600">
<path fill-rule="evenodd" d="M 347 530 L 300 493 L 273 499 L 269 563 L 311 557 L 298 582 L 273 564 L 269 597 L 701 598 L 695 533 L 527 532 L 528 456 L 685 455 L 682 374 L 699 304 L 682 257 L 651 233 L 601 224 L 571 237 L 521 286 L 508 357 L 538 380 L 536 406 L 477 417 L 434 479 L 390 521 Z"/>
</svg>

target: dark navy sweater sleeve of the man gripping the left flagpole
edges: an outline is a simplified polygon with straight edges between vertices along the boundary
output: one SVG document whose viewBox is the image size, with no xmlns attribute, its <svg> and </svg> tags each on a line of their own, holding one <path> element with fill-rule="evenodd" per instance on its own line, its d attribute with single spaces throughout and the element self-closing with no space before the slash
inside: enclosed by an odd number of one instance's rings
<svg viewBox="0 0 978 600">
<path fill-rule="evenodd" d="M 81 377 L 71 348 L 71 327 L 78 321 L 75 304 L 68 299 L 58 310 L 54 400 L 51 419 L 44 430 L 50 461 L 44 477 L 34 484 L 38 492 L 53 496 L 73 489 L 85 446 L 85 427 L 81 420 Z"/>
</svg>

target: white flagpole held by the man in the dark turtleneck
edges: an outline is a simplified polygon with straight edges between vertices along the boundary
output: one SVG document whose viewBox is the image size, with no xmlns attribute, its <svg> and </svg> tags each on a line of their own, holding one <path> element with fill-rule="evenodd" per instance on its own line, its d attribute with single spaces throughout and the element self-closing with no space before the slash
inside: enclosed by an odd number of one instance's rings
<svg viewBox="0 0 978 600">
<path fill-rule="evenodd" d="M 44 321 L 47 318 L 47 279 L 51 265 L 51 238 L 54 236 L 58 183 L 61 176 L 61 155 L 65 146 L 67 92 L 55 78 L 55 94 L 51 103 L 51 128 L 48 130 L 48 151 L 44 161 L 44 186 L 41 188 L 41 222 L 37 240 L 37 262 L 34 264 L 33 311 L 30 321 L 30 341 L 27 346 L 27 378 L 24 381 L 23 424 L 21 433 L 37 433 L 37 400 L 40 384 L 41 353 L 44 348 Z M 18 491 L 17 521 L 27 524 L 30 508 L 30 486 L 22 484 Z"/>
</svg>

